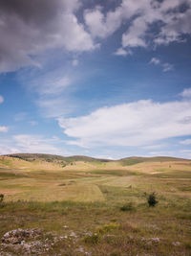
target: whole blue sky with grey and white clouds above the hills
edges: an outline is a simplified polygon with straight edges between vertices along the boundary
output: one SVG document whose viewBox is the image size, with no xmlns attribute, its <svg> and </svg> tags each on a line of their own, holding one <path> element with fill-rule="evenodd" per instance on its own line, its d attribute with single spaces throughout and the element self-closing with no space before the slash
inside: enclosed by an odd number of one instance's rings
<svg viewBox="0 0 191 256">
<path fill-rule="evenodd" d="M 191 0 L 1 0 L 0 154 L 191 159 Z"/>
</svg>

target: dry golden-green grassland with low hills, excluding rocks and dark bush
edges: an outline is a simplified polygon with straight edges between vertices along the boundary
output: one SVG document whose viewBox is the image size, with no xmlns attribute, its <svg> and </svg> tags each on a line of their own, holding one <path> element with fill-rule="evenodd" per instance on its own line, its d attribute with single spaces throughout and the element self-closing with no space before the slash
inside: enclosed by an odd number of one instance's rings
<svg viewBox="0 0 191 256">
<path fill-rule="evenodd" d="M 191 160 L 0 156 L 0 194 L 0 237 L 42 228 L 40 241 L 52 244 L 34 255 L 191 255 Z"/>
</svg>

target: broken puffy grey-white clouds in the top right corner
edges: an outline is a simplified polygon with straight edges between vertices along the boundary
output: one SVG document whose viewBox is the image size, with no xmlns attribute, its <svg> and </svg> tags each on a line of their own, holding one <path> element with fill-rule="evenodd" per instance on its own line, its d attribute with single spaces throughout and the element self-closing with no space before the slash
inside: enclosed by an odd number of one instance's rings
<svg viewBox="0 0 191 256">
<path fill-rule="evenodd" d="M 182 35 L 190 35 L 190 8 L 190 0 L 122 0 L 115 11 L 104 13 L 100 6 L 85 11 L 84 20 L 93 37 L 112 35 L 123 24 L 123 48 L 147 47 L 182 41 Z"/>
</svg>

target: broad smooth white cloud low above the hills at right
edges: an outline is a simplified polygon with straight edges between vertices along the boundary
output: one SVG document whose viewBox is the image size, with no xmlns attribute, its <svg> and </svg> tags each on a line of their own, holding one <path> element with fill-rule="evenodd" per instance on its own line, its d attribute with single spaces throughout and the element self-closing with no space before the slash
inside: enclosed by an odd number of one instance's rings
<svg viewBox="0 0 191 256">
<path fill-rule="evenodd" d="M 63 119 L 59 126 L 69 144 L 93 146 L 148 146 L 156 141 L 191 135 L 191 102 L 155 103 L 150 100 L 102 107 L 87 116 Z"/>
</svg>

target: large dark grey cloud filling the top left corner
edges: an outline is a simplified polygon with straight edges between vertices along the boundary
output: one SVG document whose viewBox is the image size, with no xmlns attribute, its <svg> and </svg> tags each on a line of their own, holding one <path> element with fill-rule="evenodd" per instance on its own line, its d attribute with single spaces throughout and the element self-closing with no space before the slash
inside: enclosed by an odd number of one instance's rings
<svg viewBox="0 0 191 256">
<path fill-rule="evenodd" d="M 39 65 L 32 57 L 47 49 L 93 50 L 74 14 L 79 6 L 78 0 L 0 1 L 0 72 Z"/>
</svg>

